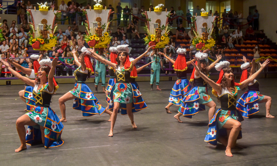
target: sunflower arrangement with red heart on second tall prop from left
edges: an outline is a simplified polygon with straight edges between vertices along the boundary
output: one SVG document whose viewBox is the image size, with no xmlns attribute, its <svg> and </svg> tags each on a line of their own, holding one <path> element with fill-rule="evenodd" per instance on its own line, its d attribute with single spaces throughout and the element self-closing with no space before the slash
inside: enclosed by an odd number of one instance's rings
<svg viewBox="0 0 277 166">
<path fill-rule="evenodd" d="M 106 48 L 107 44 L 110 43 L 110 40 L 112 39 L 112 36 L 110 36 L 109 32 L 107 32 L 107 28 L 110 22 L 108 22 L 107 25 L 102 25 L 101 28 L 103 29 L 102 31 L 102 36 L 100 37 L 93 29 L 90 27 L 88 28 L 88 24 L 85 23 L 85 27 L 87 29 L 86 35 L 84 37 L 84 40 L 87 42 L 87 45 L 90 46 L 91 48 Z M 105 31 L 106 29 L 106 31 Z"/>
</svg>

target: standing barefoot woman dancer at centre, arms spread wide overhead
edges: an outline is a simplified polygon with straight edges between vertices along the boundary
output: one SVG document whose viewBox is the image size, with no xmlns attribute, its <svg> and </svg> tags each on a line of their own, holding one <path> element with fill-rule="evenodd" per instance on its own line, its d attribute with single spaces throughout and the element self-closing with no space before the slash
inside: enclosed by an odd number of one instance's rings
<svg viewBox="0 0 277 166">
<path fill-rule="evenodd" d="M 137 90 L 134 86 L 129 83 L 129 78 L 131 72 L 133 72 L 133 66 L 138 62 L 139 59 L 144 57 L 153 46 L 149 47 L 148 50 L 140 55 L 138 58 L 130 62 L 129 60 L 129 48 L 128 45 L 119 45 L 117 46 L 118 55 L 115 63 L 111 63 L 110 61 L 103 59 L 103 62 L 112 68 L 115 69 L 116 74 L 116 83 L 111 89 L 110 93 L 110 107 L 109 109 L 113 109 L 113 113 L 111 116 L 111 126 L 110 126 L 110 134 L 109 136 L 113 136 L 113 129 L 115 126 L 115 120 L 117 117 L 117 113 L 119 107 L 126 108 L 126 113 L 128 114 L 133 128 L 137 128 L 134 122 L 134 115 L 132 111 L 132 105 L 134 103 L 135 112 L 140 111 L 146 108 L 146 104 L 141 97 L 141 93 L 135 93 Z M 101 58 L 101 56 L 94 53 L 92 49 L 88 49 L 93 53 L 93 57 Z M 121 111 L 122 114 L 122 111 Z"/>
</svg>

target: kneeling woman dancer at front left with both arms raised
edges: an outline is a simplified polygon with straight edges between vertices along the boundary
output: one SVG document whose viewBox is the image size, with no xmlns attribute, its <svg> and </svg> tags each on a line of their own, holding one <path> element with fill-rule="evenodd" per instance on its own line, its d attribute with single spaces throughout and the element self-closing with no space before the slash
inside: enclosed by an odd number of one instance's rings
<svg viewBox="0 0 277 166">
<path fill-rule="evenodd" d="M 49 107 L 53 93 L 59 88 L 54 80 L 54 71 L 58 59 L 53 59 L 53 62 L 50 59 L 41 60 L 38 75 L 35 80 L 21 76 L 7 62 L 1 61 L 17 78 L 34 87 L 35 107 L 16 120 L 16 130 L 21 145 L 15 149 L 15 152 L 27 149 L 26 144 L 30 145 L 34 139 L 40 139 L 38 138 L 40 135 L 45 148 L 62 145 L 63 140 L 61 140 L 61 134 L 63 124 L 55 112 Z M 28 125 L 27 134 L 25 125 Z M 37 129 L 38 127 L 40 130 Z M 39 134 L 39 131 L 41 131 L 41 134 Z"/>
</svg>

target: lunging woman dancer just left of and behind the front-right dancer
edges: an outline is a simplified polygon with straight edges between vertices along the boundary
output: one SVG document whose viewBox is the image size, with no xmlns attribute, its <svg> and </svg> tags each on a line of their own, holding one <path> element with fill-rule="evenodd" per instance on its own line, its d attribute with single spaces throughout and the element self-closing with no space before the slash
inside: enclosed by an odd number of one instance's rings
<svg viewBox="0 0 277 166">
<path fill-rule="evenodd" d="M 216 55 L 216 60 L 210 64 L 208 67 L 206 58 L 208 57 L 208 54 L 205 53 L 196 53 L 195 58 L 197 60 L 196 65 L 199 69 L 201 69 L 201 72 L 204 73 L 206 76 L 209 77 L 208 72 L 214 68 L 215 64 L 220 61 L 222 58 L 221 55 Z M 183 98 L 182 105 L 178 110 L 178 114 L 174 117 L 179 121 L 180 114 L 182 114 L 186 118 L 192 118 L 193 115 L 198 113 L 199 111 L 205 110 L 205 106 L 209 107 L 209 121 L 214 116 L 215 102 L 210 98 L 208 95 L 208 84 L 204 81 L 203 78 L 200 77 L 197 70 L 193 69 L 193 72 L 190 77 L 190 81 L 193 81 L 194 88 L 190 90 Z M 180 122 L 180 121 L 179 121 Z"/>
</svg>

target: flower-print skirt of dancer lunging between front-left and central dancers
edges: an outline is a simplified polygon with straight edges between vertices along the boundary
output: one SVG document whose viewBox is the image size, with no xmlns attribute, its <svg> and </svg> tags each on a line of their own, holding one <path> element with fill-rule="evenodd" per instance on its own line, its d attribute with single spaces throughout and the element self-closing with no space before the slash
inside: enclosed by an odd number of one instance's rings
<svg viewBox="0 0 277 166">
<path fill-rule="evenodd" d="M 106 111 L 106 108 L 98 102 L 87 84 L 75 83 L 74 88 L 69 92 L 77 97 L 74 99 L 72 108 L 82 111 L 83 116 L 101 115 Z"/>
</svg>

